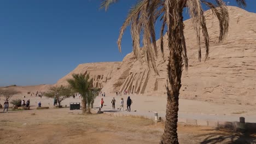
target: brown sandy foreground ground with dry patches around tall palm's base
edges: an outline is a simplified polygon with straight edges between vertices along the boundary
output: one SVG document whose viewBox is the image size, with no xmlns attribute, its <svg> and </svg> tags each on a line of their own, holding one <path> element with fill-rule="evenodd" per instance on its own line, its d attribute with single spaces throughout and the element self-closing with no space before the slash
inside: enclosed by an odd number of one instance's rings
<svg viewBox="0 0 256 144">
<path fill-rule="evenodd" d="M 158 143 L 164 124 L 68 108 L 0 113 L 0 143 Z M 178 126 L 180 143 L 256 143 L 255 134 Z"/>
</svg>

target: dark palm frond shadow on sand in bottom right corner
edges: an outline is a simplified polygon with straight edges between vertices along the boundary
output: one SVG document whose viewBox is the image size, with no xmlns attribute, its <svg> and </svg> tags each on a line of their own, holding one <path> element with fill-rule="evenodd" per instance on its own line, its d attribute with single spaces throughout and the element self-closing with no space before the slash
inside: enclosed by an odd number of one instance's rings
<svg viewBox="0 0 256 144">
<path fill-rule="evenodd" d="M 246 133 L 237 133 L 237 132 L 223 132 L 216 131 L 216 133 L 209 133 L 198 135 L 197 137 L 205 137 L 205 139 L 200 142 L 200 144 L 208 143 L 234 143 L 234 144 L 251 144 L 256 143 L 256 133 L 246 132 Z"/>
</svg>

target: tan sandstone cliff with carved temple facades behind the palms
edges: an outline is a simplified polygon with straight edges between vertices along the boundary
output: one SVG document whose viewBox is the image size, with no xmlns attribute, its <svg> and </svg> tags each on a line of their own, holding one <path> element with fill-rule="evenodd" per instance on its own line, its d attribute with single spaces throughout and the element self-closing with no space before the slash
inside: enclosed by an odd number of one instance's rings
<svg viewBox="0 0 256 144">
<path fill-rule="evenodd" d="M 211 11 L 206 11 L 210 57 L 202 62 L 197 59 L 198 46 L 192 22 L 184 21 L 189 69 L 183 72 L 181 98 L 216 103 L 256 103 L 256 14 L 229 7 L 229 15 L 229 33 L 223 43 L 218 43 L 218 20 Z M 129 53 L 123 62 L 80 64 L 60 79 L 57 85 L 65 85 L 66 79 L 71 78 L 73 73 L 90 73 L 94 86 L 101 87 L 102 92 L 165 95 L 168 49 L 164 46 L 165 56 L 162 57 L 160 41 L 157 41 L 157 46 L 159 75 L 145 62 L 137 61 L 133 53 Z"/>
</svg>

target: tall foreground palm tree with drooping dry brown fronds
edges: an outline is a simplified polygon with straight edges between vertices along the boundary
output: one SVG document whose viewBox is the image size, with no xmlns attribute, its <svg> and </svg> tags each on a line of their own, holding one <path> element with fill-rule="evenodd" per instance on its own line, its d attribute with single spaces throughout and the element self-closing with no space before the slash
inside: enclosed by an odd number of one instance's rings
<svg viewBox="0 0 256 144">
<path fill-rule="evenodd" d="M 104 0 L 101 8 L 106 10 L 110 4 L 117 3 L 118 0 Z M 144 59 L 156 73 L 155 58 L 157 56 L 156 38 L 155 38 L 155 22 L 162 21 L 160 41 L 161 52 L 168 55 L 167 74 L 168 83 L 167 105 L 166 105 L 166 122 L 164 134 L 160 143 L 178 143 L 177 121 L 178 121 L 178 105 L 179 105 L 179 89 L 181 88 L 181 76 L 183 66 L 188 69 L 187 49 L 184 38 L 183 9 L 187 7 L 198 42 L 198 58 L 201 61 L 201 37 L 205 44 L 206 55 L 209 53 L 209 35 L 206 27 L 205 16 L 203 15 L 202 5 L 206 5 L 212 10 L 212 13 L 219 20 L 219 42 L 225 38 L 229 27 L 229 14 L 223 0 L 138 0 L 133 5 L 127 15 L 123 26 L 120 29 L 118 38 L 118 47 L 121 51 L 121 40 L 127 26 L 131 26 L 131 36 L 133 44 L 133 52 L 139 61 L 142 61 L 142 53 L 140 42 L 142 38 Z M 245 0 L 236 0 L 238 5 L 245 7 Z M 167 47 L 170 50 L 164 53 L 163 37 L 165 29 L 167 30 Z M 202 35 L 201 35 L 202 33 Z M 142 37 L 141 37 L 142 35 Z"/>
</svg>

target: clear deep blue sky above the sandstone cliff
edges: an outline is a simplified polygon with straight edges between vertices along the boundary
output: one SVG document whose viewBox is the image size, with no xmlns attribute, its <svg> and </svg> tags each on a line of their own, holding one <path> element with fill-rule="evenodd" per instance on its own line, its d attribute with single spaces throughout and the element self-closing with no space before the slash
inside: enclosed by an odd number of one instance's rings
<svg viewBox="0 0 256 144">
<path fill-rule="evenodd" d="M 256 13 L 256 1 L 247 1 L 246 10 Z M 100 2 L 0 1 L 0 86 L 52 84 L 81 63 L 122 61 L 132 51 L 130 31 L 122 53 L 116 41 L 136 0 L 120 1 L 107 13 Z"/>
</svg>

